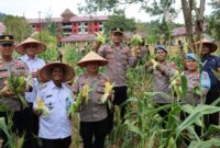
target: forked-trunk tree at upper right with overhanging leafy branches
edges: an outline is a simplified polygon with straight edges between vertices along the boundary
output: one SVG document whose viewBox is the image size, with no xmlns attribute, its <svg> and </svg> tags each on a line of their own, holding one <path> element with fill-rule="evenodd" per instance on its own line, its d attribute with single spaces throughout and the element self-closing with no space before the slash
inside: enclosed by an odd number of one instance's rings
<svg viewBox="0 0 220 148">
<path fill-rule="evenodd" d="M 189 47 L 194 49 L 194 32 L 193 32 L 193 12 L 196 13 L 196 39 L 200 39 L 204 29 L 204 11 L 206 0 L 199 0 L 200 4 L 197 7 L 196 0 L 182 0 L 182 10 L 185 20 L 186 35 L 189 41 Z M 86 0 L 87 5 L 84 8 L 85 11 L 103 11 L 112 10 L 119 5 L 140 3 L 141 9 L 145 10 L 152 15 L 166 16 L 166 21 L 172 21 L 180 9 L 175 8 L 176 0 Z"/>
</svg>

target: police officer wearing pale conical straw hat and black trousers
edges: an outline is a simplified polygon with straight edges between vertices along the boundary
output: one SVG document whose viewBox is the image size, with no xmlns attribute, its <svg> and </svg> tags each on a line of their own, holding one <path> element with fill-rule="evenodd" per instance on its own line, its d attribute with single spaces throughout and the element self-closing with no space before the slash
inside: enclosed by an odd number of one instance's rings
<svg viewBox="0 0 220 148">
<path fill-rule="evenodd" d="M 73 84 L 74 92 L 78 94 L 86 84 L 89 86 L 88 103 L 82 102 L 79 111 L 80 135 L 84 148 L 103 148 L 108 118 L 107 104 L 100 99 L 105 94 L 107 78 L 99 73 L 99 67 L 107 65 L 107 60 L 95 52 L 87 54 L 78 66 L 87 71 L 76 78 Z"/>
</svg>

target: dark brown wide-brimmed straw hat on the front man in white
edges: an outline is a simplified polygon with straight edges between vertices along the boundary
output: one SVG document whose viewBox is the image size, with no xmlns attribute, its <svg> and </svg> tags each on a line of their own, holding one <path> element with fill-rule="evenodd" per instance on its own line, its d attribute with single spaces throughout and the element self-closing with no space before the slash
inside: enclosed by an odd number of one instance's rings
<svg viewBox="0 0 220 148">
<path fill-rule="evenodd" d="M 64 77 L 63 77 L 63 81 L 66 82 L 68 80 L 70 80 L 72 78 L 74 78 L 75 76 L 75 71 L 74 68 L 72 68 L 69 65 L 64 64 L 64 62 L 59 62 L 59 61 L 55 61 L 52 64 L 47 64 L 45 65 L 41 70 L 40 70 L 40 78 L 43 81 L 48 81 L 52 79 L 51 73 L 53 68 L 55 67 L 62 67 L 64 69 Z"/>
</svg>

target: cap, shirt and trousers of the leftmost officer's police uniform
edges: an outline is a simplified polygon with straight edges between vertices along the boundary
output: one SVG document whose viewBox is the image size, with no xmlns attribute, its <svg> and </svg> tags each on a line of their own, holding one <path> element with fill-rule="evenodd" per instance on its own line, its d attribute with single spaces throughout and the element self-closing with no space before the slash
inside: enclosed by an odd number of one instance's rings
<svg viewBox="0 0 220 148">
<path fill-rule="evenodd" d="M 1 35 L 0 36 L 0 46 L 13 46 L 14 41 L 12 35 Z M 4 61 L 3 58 L 0 59 L 0 89 L 6 86 L 6 80 L 10 77 L 11 72 L 14 72 L 18 76 L 28 76 L 29 68 L 28 66 L 20 61 L 12 59 L 11 61 Z M 0 98 L 0 105 L 6 105 L 9 111 L 13 113 L 12 121 L 13 121 L 13 132 L 21 134 L 24 128 L 24 122 L 22 118 L 22 104 L 18 96 L 10 96 L 10 98 Z M 8 119 L 6 112 L 0 112 L 0 116 L 6 117 Z M 7 136 L 1 134 L 1 137 L 4 140 L 3 146 L 7 143 Z"/>
</svg>

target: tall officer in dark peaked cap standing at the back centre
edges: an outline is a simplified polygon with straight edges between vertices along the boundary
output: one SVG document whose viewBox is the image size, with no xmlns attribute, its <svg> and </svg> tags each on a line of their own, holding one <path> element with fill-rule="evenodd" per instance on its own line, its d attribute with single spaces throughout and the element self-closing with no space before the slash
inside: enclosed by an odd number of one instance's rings
<svg viewBox="0 0 220 148">
<path fill-rule="evenodd" d="M 114 82 L 113 104 L 121 105 L 127 99 L 127 69 L 128 66 L 135 67 L 138 59 L 131 55 L 129 47 L 122 45 L 123 30 L 116 27 L 111 30 L 111 45 L 103 45 L 99 48 L 99 55 L 109 62 L 106 66 L 107 77 Z M 123 118 L 125 106 L 121 106 L 121 117 Z M 110 130 L 113 126 L 113 114 L 109 114 Z"/>
</svg>

